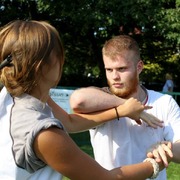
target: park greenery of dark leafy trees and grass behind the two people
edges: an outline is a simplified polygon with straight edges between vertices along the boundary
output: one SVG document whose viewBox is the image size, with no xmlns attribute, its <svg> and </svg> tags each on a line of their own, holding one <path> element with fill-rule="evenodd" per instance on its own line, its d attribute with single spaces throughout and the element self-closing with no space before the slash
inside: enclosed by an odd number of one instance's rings
<svg viewBox="0 0 180 180">
<path fill-rule="evenodd" d="M 161 91 L 168 72 L 180 92 L 180 0 L 0 0 L 0 26 L 16 19 L 45 20 L 59 31 L 66 53 L 60 87 L 105 86 L 102 45 L 128 34 L 145 64 L 141 83 Z M 88 132 L 72 136 L 93 155 Z M 172 163 L 168 180 L 180 180 L 179 169 Z"/>
</svg>

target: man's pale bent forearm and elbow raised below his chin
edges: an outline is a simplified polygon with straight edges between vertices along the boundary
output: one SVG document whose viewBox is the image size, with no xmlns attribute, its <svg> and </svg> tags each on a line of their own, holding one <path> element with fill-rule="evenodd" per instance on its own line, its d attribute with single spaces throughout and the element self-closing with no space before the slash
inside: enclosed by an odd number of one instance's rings
<svg viewBox="0 0 180 180">
<path fill-rule="evenodd" d="M 71 108 L 78 113 L 106 110 L 123 104 L 124 102 L 125 100 L 96 87 L 77 89 L 70 97 Z"/>
</svg>

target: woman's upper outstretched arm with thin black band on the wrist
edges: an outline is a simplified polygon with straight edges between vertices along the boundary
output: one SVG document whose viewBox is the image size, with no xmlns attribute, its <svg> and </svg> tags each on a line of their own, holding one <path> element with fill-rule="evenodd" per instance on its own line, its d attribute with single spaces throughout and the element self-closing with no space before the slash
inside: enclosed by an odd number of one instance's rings
<svg viewBox="0 0 180 180">
<path fill-rule="evenodd" d="M 59 107 L 51 98 L 48 100 L 49 106 L 51 106 L 54 116 L 59 119 L 66 130 L 69 133 L 85 131 L 92 127 L 98 126 L 99 124 L 117 118 L 115 108 L 111 108 L 104 111 L 93 112 L 93 113 L 73 113 L 67 114 L 61 107 Z M 146 107 L 134 98 L 130 98 L 123 105 L 118 106 L 117 112 L 119 118 L 128 116 L 138 121 L 143 115 L 143 119 L 152 126 L 162 126 L 162 122 L 158 119 L 151 119 L 151 115 L 145 113 L 143 110 Z"/>
</svg>

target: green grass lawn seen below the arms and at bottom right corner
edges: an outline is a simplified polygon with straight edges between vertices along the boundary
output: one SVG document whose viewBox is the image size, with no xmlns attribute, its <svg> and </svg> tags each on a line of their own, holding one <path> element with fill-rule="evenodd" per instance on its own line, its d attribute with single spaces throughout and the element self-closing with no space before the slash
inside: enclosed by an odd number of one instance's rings
<svg viewBox="0 0 180 180">
<path fill-rule="evenodd" d="M 92 146 L 89 143 L 89 134 L 87 132 L 73 134 L 71 137 L 84 152 L 89 154 L 91 157 L 94 157 Z M 180 180 L 180 164 L 170 163 L 169 167 L 167 168 L 167 179 Z M 64 177 L 63 180 L 69 179 Z"/>
</svg>

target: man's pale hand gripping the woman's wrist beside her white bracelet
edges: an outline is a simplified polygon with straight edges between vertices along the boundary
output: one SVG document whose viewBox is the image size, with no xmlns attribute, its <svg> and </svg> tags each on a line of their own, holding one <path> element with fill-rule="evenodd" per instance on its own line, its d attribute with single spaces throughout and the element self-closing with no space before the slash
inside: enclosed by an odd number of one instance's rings
<svg viewBox="0 0 180 180">
<path fill-rule="evenodd" d="M 161 141 L 150 147 L 147 157 L 154 158 L 157 162 L 163 161 L 164 166 L 168 167 L 169 162 L 173 158 L 172 143 L 169 141 Z"/>
</svg>

